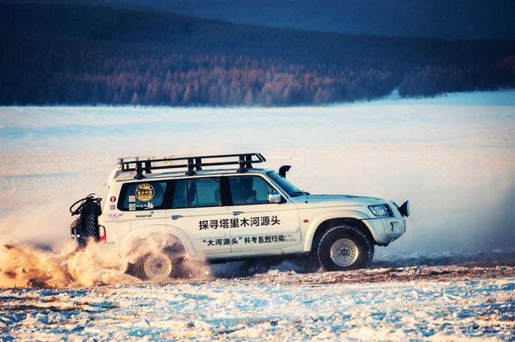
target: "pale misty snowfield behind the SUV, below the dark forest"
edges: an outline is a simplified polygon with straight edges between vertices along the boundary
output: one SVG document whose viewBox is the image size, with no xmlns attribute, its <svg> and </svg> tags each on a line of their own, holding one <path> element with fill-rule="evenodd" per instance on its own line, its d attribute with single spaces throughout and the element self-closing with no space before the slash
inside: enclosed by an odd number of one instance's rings
<svg viewBox="0 0 515 342">
<path fill-rule="evenodd" d="M 514 247 L 515 90 L 304 108 L 0 108 L 1 242 L 69 241 L 116 158 L 258 151 L 310 193 L 410 200 L 377 252 Z"/>
</svg>

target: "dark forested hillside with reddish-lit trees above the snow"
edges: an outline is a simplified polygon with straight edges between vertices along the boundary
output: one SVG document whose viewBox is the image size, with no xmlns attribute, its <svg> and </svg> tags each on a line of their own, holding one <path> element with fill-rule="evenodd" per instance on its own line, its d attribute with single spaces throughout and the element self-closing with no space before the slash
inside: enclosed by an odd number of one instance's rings
<svg viewBox="0 0 515 342">
<path fill-rule="evenodd" d="M 2 24 L 3 23 L 3 24 Z M 0 104 L 294 106 L 515 86 L 515 40 L 300 32 L 0 5 Z"/>
</svg>

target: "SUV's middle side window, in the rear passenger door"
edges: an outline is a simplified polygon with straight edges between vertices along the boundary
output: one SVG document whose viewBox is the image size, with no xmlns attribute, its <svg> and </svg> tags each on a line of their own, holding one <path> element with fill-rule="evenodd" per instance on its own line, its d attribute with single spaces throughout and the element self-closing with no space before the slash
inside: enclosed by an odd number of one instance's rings
<svg viewBox="0 0 515 342">
<path fill-rule="evenodd" d="M 220 178 L 176 180 L 173 208 L 220 206 Z"/>
</svg>

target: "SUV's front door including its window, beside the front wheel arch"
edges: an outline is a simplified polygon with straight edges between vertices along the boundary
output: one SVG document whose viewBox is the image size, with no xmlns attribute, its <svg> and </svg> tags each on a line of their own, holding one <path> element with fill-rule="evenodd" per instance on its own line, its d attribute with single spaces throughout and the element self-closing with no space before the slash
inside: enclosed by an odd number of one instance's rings
<svg viewBox="0 0 515 342">
<path fill-rule="evenodd" d="M 278 254 L 299 245 L 301 231 L 297 206 L 287 199 L 270 203 L 277 192 L 260 174 L 228 176 L 231 254 Z"/>
</svg>

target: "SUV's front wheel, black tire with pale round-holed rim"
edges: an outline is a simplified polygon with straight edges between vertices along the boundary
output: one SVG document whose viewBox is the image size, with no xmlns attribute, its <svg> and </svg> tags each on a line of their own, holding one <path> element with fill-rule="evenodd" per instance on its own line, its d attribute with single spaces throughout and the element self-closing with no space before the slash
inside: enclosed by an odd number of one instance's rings
<svg viewBox="0 0 515 342">
<path fill-rule="evenodd" d="M 320 240 L 318 256 L 326 271 L 363 269 L 373 256 L 374 245 L 354 227 L 342 225 L 328 230 Z"/>
</svg>

